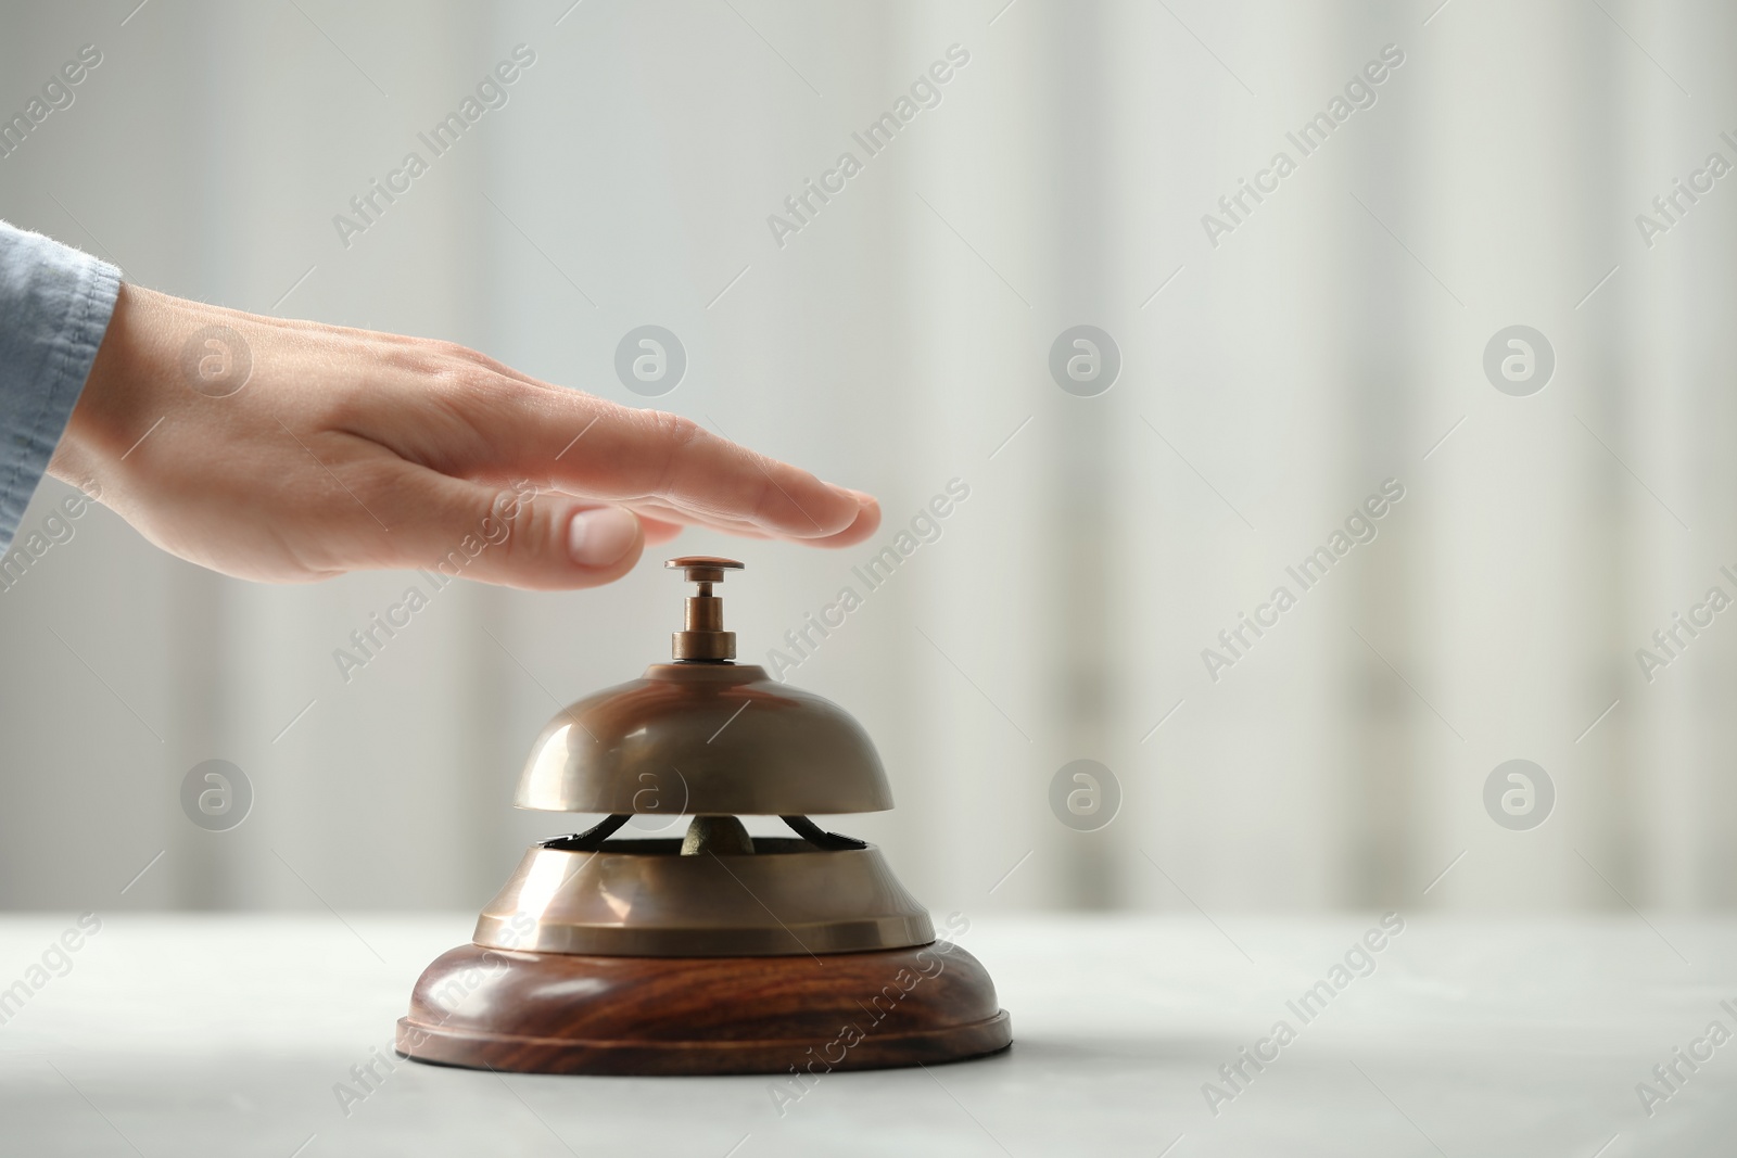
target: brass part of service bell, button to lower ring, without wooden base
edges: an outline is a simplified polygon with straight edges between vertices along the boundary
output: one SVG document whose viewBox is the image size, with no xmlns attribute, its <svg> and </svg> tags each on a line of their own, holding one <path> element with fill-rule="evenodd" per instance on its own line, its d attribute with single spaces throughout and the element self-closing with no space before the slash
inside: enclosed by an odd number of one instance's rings
<svg viewBox="0 0 1737 1158">
<path fill-rule="evenodd" d="M 549 720 L 514 800 L 606 818 L 533 845 L 483 908 L 476 943 L 697 957 L 933 941 L 928 911 L 879 849 L 808 819 L 893 807 L 868 733 L 830 700 L 733 661 L 736 637 L 712 587 L 740 563 L 665 566 L 698 585 L 674 661 Z M 636 814 L 693 823 L 684 840 L 617 839 Z M 749 837 L 738 816 L 780 816 L 794 837 Z"/>
</svg>

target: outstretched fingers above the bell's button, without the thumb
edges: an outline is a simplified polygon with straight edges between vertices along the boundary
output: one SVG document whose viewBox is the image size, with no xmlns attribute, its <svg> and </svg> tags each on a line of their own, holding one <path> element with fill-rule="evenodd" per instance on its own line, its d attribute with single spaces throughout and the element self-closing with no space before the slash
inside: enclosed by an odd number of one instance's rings
<svg viewBox="0 0 1737 1158">
<path fill-rule="evenodd" d="M 879 524 L 872 498 L 679 415 L 516 378 L 457 389 L 479 439 L 453 474 L 547 479 L 582 498 L 653 502 L 669 512 L 655 517 L 669 521 L 829 545 L 860 542 Z"/>
</svg>

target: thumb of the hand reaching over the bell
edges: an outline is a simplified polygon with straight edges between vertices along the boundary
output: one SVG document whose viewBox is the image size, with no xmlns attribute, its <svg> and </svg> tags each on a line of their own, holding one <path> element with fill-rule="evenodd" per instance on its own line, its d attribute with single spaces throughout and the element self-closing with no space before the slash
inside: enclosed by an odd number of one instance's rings
<svg viewBox="0 0 1737 1158">
<path fill-rule="evenodd" d="M 497 490 L 412 467 L 413 486 L 382 512 L 393 559 L 504 587 L 566 590 L 627 575 L 644 550 L 644 528 L 624 507 L 535 490 Z"/>
</svg>

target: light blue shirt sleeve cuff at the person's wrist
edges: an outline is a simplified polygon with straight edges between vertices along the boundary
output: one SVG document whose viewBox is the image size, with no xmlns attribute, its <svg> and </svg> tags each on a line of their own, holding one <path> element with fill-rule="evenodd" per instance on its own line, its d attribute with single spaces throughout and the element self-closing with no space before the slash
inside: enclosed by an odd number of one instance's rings
<svg viewBox="0 0 1737 1158">
<path fill-rule="evenodd" d="M 66 432 L 120 271 L 0 220 L 0 554 Z"/>
</svg>

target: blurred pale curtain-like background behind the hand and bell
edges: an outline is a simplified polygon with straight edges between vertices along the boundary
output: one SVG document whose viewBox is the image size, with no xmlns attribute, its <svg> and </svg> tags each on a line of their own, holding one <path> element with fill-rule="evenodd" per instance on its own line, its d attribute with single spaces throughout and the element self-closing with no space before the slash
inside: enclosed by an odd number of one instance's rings
<svg viewBox="0 0 1737 1158">
<path fill-rule="evenodd" d="M 743 658 L 969 486 L 787 672 L 877 740 L 900 807 L 835 826 L 931 906 L 1737 899 L 1737 616 L 1650 681 L 1636 660 L 1737 594 L 1737 186 L 1636 224 L 1737 161 L 1728 7 L 135 3 L 5 5 L 0 115 L 102 59 L 0 160 L 0 215 L 144 286 L 452 339 L 877 493 L 858 549 L 658 552 L 747 561 Z M 516 45 L 507 102 L 346 245 L 334 217 Z M 851 134 L 952 45 L 940 102 L 868 156 Z M 1303 158 L 1287 134 L 1388 45 Z M 775 236 L 844 151 L 862 172 Z M 1230 217 L 1278 151 L 1296 172 Z M 641 325 L 688 356 L 657 399 L 613 368 Z M 1049 372 L 1075 325 L 1120 352 L 1098 396 Z M 1529 396 L 1483 368 L 1511 325 L 1555 354 Z M 1287 568 L 1388 479 L 1376 538 L 1301 592 Z M 273 589 L 104 509 L 75 528 L 0 592 L 7 908 L 474 910 L 592 819 L 511 807 L 540 724 L 679 616 L 650 554 L 608 590 L 466 582 L 346 682 L 334 649 L 413 576 Z M 1278 585 L 1298 604 L 1212 679 L 1202 649 Z M 229 832 L 181 809 L 207 759 L 254 786 Z M 1077 759 L 1120 786 L 1096 832 L 1049 806 Z M 1555 786 L 1523 832 L 1485 807 L 1509 759 Z"/>
</svg>

